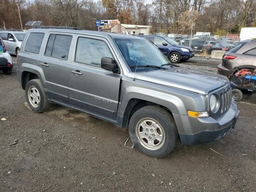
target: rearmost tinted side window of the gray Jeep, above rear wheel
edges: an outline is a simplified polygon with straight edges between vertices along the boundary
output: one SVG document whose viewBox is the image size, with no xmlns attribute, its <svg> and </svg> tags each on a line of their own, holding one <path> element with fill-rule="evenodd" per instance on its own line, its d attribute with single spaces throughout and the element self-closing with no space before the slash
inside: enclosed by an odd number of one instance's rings
<svg viewBox="0 0 256 192">
<path fill-rule="evenodd" d="M 44 33 L 30 33 L 24 51 L 38 54 L 44 38 Z"/>
</svg>

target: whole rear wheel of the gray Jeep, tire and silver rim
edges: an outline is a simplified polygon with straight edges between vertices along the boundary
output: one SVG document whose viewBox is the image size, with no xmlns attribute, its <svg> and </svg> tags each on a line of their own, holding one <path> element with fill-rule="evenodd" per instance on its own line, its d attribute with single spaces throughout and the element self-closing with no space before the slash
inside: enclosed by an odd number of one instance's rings
<svg viewBox="0 0 256 192">
<path fill-rule="evenodd" d="M 46 98 L 46 94 L 39 79 L 30 80 L 26 84 L 26 100 L 28 106 L 37 113 L 44 112 L 50 108 L 50 102 Z"/>
</svg>

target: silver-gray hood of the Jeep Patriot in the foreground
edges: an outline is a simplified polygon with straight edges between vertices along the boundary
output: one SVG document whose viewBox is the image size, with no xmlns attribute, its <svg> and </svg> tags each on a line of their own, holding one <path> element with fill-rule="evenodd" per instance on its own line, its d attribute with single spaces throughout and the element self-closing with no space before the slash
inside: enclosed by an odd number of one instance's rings
<svg viewBox="0 0 256 192">
<path fill-rule="evenodd" d="M 134 72 L 128 76 L 133 78 Z M 135 78 L 204 95 L 228 83 L 225 76 L 186 67 L 137 72 Z"/>
</svg>

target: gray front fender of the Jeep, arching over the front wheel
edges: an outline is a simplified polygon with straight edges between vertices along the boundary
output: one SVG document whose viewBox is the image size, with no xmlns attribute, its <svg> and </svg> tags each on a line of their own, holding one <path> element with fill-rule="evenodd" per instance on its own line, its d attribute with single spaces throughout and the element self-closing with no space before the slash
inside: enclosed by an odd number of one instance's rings
<svg viewBox="0 0 256 192">
<path fill-rule="evenodd" d="M 128 80 L 128 81 L 126 81 Z M 187 115 L 187 110 L 205 111 L 207 99 L 192 92 L 170 88 L 159 84 L 152 84 L 142 80 L 130 81 L 123 76 L 120 102 L 118 106 L 117 122 L 123 127 L 126 108 L 133 103 L 130 100 L 144 100 L 168 108 L 174 114 Z M 197 105 L 202 103 L 202 105 Z M 135 103 L 136 104 L 136 103 Z M 135 105 L 133 104 L 133 105 Z"/>
</svg>

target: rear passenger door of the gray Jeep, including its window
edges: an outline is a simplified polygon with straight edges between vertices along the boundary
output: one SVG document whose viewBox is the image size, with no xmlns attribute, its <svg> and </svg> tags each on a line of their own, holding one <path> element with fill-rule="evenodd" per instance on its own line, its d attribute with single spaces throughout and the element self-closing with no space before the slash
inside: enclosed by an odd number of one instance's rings
<svg viewBox="0 0 256 192">
<path fill-rule="evenodd" d="M 65 105 L 69 105 L 68 66 L 73 38 L 74 34 L 49 32 L 38 60 L 38 66 L 44 72 L 48 98 Z"/>
</svg>

